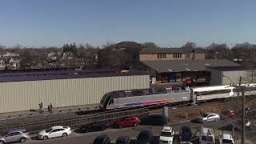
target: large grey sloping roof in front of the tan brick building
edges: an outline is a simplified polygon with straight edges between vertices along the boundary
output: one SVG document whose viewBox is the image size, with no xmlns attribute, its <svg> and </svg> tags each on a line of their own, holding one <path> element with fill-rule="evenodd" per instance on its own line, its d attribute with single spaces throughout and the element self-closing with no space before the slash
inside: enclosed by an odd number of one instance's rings
<svg viewBox="0 0 256 144">
<path fill-rule="evenodd" d="M 156 70 L 158 73 L 180 72 L 180 71 L 206 71 L 209 66 L 241 66 L 238 63 L 226 59 L 204 59 L 204 60 L 158 60 L 142 61 L 146 66 Z"/>
</svg>

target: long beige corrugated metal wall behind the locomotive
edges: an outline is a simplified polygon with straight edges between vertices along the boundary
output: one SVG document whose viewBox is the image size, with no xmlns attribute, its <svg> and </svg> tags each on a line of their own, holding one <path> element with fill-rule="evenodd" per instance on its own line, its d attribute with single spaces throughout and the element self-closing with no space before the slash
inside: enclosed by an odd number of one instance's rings
<svg viewBox="0 0 256 144">
<path fill-rule="evenodd" d="M 143 89 L 149 87 L 149 75 L 102 78 L 73 78 L 43 81 L 1 82 L 0 113 L 78 106 L 99 103 L 103 94 L 113 90 Z"/>
</svg>

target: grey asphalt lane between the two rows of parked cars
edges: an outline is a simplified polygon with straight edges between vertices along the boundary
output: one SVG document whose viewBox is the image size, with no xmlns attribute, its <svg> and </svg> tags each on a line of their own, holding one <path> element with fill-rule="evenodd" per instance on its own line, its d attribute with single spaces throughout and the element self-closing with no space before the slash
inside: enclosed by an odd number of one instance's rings
<svg viewBox="0 0 256 144">
<path fill-rule="evenodd" d="M 225 122 L 220 121 L 220 122 L 209 122 L 206 124 L 200 124 L 200 123 L 192 123 L 192 122 L 175 122 L 175 123 L 170 123 L 171 126 L 174 127 L 174 131 L 178 133 L 180 130 L 181 126 L 189 125 L 193 132 L 196 130 L 199 130 L 201 126 L 208 126 L 212 128 L 218 128 L 219 126 L 222 126 Z M 100 132 L 92 132 L 92 133 L 86 133 L 86 134 L 77 134 L 73 133 L 70 134 L 67 138 L 53 138 L 53 139 L 48 139 L 46 141 L 39 141 L 39 140 L 34 140 L 32 138 L 31 140 L 28 140 L 26 143 L 42 143 L 42 144 L 90 144 L 90 142 L 93 142 L 94 138 L 97 137 L 100 134 L 107 134 L 111 141 L 115 141 L 116 138 L 119 136 L 130 136 L 130 138 L 136 138 L 138 136 L 138 133 L 142 129 L 151 129 L 155 135 L 160 134 L 162 130 L 162 126 L 138 126 L 136 128 L 134 127 L 127 127 L 123 129 L 107 129 L 104 131 Z"/>
</svg>

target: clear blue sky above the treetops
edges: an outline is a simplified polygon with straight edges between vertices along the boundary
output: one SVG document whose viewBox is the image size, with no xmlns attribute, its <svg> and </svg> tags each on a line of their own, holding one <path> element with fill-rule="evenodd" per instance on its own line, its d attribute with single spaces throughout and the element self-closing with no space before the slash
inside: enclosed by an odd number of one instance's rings
<svg viewBox="0 0 256 144">
<path fill-rule="evenodd" d="M 256 43 L 255 0 L 1 0 L 0 45 Z"/>
</svg>

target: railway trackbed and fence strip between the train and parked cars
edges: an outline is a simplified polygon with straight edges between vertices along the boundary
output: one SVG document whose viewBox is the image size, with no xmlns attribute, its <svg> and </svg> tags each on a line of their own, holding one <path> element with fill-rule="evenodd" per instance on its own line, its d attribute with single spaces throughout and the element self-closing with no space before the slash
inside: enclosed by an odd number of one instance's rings
<svg viewBox="0 0 256 144">
<path fill-rule="evenodd" d="M 250 99 L 249 102 L 246 103 L 246 105 L 251 105 L 251 104 L 255 104 L 256 103 L 256 98 L 255 96 L 253 97 L 246 97 L 248 99 Z M 235 99 L 235 98 L 234 98 Z M 200 110 L 200 109 L 208 109 L 211 107 L 218 107 L 218 106 L 229 106 L 230 104 L 232 104 L 232 102 L 202 102 L 202 103 L 199 103 L 198 106 L 191 106 L 191 103 L 186 103 L 186 104 L 183 104 L 183 105 L 168 105 L 168 104 L 165 104 L 165 105 L 160 105 L 160 106 L 148 106 L 143 109 L 146 110 L 146 112 L 143 112 L 143 113 L 148 113 L 148 114 L 159 114 L 159 113 L 162 113 L 162 106 L 170 106 L 170 114 L 177 114 L 177 113 L 186 113 L 188 111 L 195 111 L 195 110 Z M 126 114 L 126 111 L 129 111 L 129 110 L 138 110 L 138 108 L 133 108 L 133 109 L 128 109 L 128 108 L 125 108 L 125 109 L 118 109 L 118 110 L 107 110 L 107 111 L 101 111 L 101 110 L 94 110 L 93 112 L 88 112 L 88 111 L 85 111 L 83 112 L 82 114 L 78 115 L 78 114 L 73 114 L 73 115 L 55 115 L 55 118 L 52 118 L 50 116 L 41 116 L 41 117 L 35 117 L 35 118 L 30 118 L 30 119 L 26 119 L 26 118 L 17 118 L 15 119 L 14 121 L 10 121 L 10 120 L 7 120 L 7 121 L 0 121 L 0 127 L 1 126 L 30 126 L 31 123 L 34 123 L 34 124 L 37 124 L 38 123 L 38 126 L 40 125 L 40 122 L 43 122 L 43 121 L 46 121 L 48 122 L 47 124 L 49 124 L 50 126 L 50 122 L 53 122 L 54 124 L 58 124 L 58 125 L 67 125 L 69 124 L 69 122 L 71 121 L 77 121 L 77 125 L 79 125 L 79 122 L 82 123 L 82 118 L 83 117 L 86 117 L 87 115 L 90 117 L 95 117 L 97 118 L 98 116 L 101 116 L 101 115 L 109 115 L 109 118 L 108 120 L 112 120 L 111 118 L 116 118 L 114 117 L 113 115 L 111 114 L 117 114 L 117 113 L 121 113 L 122 112 L 122 115 L 125 116 L 125 115 L 128 115 L 128 113 Z M 57 118 L 56 118 L 57 117 Z M 119 116 L 118 116 L 119 117 Z M 67 122 L 58 122 L 62 119 L 66 119 Z M 79 121 L 77 119 L 80 119 Z M 95 119 L 97 121 L 97 119 Z M 48 125 L 47 125 L 48 126 Z M 33 128 L 31 128 L 33 129 Z"/>
</svg>

